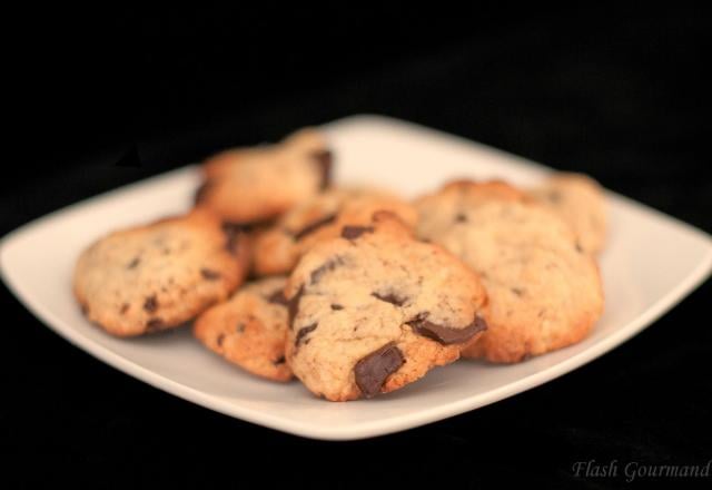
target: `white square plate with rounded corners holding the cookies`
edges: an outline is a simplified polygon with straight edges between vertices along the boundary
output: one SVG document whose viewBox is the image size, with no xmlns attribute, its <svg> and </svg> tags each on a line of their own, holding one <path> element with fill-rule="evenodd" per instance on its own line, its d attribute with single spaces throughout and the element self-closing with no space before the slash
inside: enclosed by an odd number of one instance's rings
<svg viewBox="0 0 712 490">
<path fill-rule="evenodd" d="M 452 178 L 500 177 L 531 185 L 540 165 L 423 127 L 382 117 L 343 119 L 325 129 L 340 183 L 376 183 L 414 196 Z M 463 413 L 561 376 L 650 325 L 710 274 L 705 234 L 609 193 L 610 241 L 601 257 L 606 312 L 584 342 L 511 366 L 458 362 L 370 401 L 328 403 L 299 383 L 253 378 L 195 342 L 187 329 L 119 340 L 90 325 L 73 301 L 75 261 L 105 233 L 190 205 L 196 167 L 127 186 L 52 213 L 3 238 L 2 276 L 27 307 L 73 344 L 156 388 L 206 408 L 316 439 L 362 439 Z"/>
</svg>

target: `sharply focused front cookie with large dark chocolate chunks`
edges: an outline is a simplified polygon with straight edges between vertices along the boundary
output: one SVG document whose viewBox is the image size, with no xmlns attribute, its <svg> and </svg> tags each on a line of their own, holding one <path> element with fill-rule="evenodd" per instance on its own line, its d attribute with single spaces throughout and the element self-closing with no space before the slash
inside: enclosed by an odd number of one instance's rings
<svg viewBox="0 0 712 490">
<path fill-rule="evenodd" d="M 285 294 L 287 362 L 329 401 L 397 390 L 457 360 L 461 346 L 486 329 L 477 276 L 388 213 L 316 244 Z"/>
</svg>

